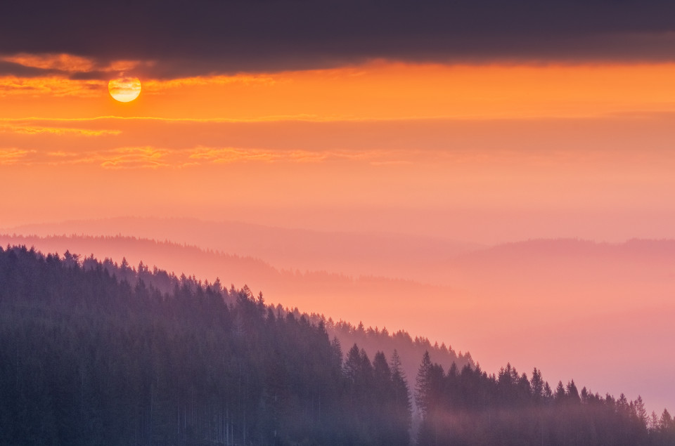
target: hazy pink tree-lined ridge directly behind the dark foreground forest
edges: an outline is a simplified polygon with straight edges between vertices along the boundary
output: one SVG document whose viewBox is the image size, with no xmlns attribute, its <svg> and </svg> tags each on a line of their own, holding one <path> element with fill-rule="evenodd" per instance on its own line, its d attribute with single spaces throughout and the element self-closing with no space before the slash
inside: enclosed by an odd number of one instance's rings
<svg viewBox="0 0 675 446">
<path fill-rule="evenodd" d="M 82 256 L 95 254 L 97 258 L 111 258 L 117 263 L 126 258 L 134 267 L 143 261 L 150 268 L 157 266 L 176 275 L 196 275 L 211 282 L 219 278 L 227 286 L 248 284 L 255 293 L 262 291 L 269 302 L 285 307 L 324 313 L 354 324 L 363 321 L 366 326 L 380 329 L 406 327 L 420 336 L 428 336 L 424 334 L 423 324 L 412 327 L 404 324 L 411 296 L 433 297 L 439 301 L 456 296 L 455 300 L 447 301 L 448 306 L 458 308 L 463 301 L 466 304 L 461 294 L 450 287 L 373 275 L 351 277 L 328 271 L 283 270 L 257 258 L 135 237 L 0 235 L 0 243 L 25 244 L 46 252 L 70 250 Z"/>
</svg>

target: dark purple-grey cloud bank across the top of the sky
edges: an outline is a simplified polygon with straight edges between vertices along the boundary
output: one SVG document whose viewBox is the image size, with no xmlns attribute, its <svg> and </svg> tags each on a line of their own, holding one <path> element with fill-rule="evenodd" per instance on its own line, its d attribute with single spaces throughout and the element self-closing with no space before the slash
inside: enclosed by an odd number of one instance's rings
<svg viewBox="0 0 675 446">
<path fill-rule="evenodd" d="M 672 1 L 79 0 L 13 1 L 2 9 L 0 53 L 155 60 L 146 74 L 164 78 L 372 58 L 675 60 Z"/>
</svg>

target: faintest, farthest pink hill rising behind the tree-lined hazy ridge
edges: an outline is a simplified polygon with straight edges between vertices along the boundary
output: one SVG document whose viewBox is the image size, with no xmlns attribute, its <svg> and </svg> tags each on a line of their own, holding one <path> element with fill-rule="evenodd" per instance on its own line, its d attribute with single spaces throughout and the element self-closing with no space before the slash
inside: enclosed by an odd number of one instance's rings
<svg viewBox="0 0 675 446">
<path fill-rule="evenodd" d="M 437 283 L 428 267 L 479 247 L 438 237 L 322 232 L 238 221 L 120 217 L 41 223 L 0 232 L 18 235 L 125 235 L 262 258 L 276 268 L 326 270 Z"/>
</svg>

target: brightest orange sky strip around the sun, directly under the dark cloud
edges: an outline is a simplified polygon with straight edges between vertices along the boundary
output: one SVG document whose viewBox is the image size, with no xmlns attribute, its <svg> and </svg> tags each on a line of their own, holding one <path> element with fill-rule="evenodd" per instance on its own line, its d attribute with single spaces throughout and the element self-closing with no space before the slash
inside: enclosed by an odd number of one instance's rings
<svg viewBox="0 0 675 446">
<path fill-rule="evenodd" d="M 673 110 L 674 78 L 674 64 L 371 63 L 306 72 L 144 79 L 143 96 L 148 100 L 139 101 L 134 114 L 128 115 L 237 120 L 594 117 Z M 120 113 L 114 105 L 103 106 L 106 94 L 105 81 L 2 77 L 0 95 L 12 107 L 3 107 L 0 113 L 3 117 Z"/>
</svg>

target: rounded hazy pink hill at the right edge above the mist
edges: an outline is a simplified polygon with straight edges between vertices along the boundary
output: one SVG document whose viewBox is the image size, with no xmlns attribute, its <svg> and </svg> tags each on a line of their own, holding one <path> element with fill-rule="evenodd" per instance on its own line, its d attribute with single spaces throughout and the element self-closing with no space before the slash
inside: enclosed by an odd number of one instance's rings
<svg viewBox="0 0 675 446">
<path fill-rule="evenodd" d="M 580 291 L 603 294 L 617 287 L 663 294 L 675 284 L 675 240 L 526 240 L 460 254 L 442 268 L 454 272 L 458 287 L 506 294 L 559 289 L 573 299 Z"/>
</svg>

